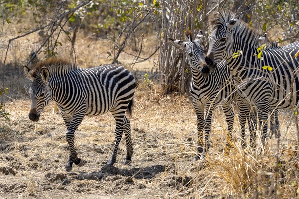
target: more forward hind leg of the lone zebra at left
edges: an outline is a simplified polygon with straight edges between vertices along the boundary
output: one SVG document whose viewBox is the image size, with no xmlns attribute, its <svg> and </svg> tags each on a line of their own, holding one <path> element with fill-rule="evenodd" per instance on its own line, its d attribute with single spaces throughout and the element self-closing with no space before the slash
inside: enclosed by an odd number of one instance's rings
<svg viewBox="0 0 299 199">
<path fill-rule="evenodd" d="M 115 118 L 115 131 L 114 131 L 115 141 L 114 141 L 114 148 L 113 148 L 112 155 L 110 156 L 110 159 L 107 163 L 109 165 L 113 165 L 116 162 L 118 146 L 120 144 L 124 132 L 123 123 L 125 117 L 125 112 L 111 112 L 111 113 Z"/>
</svg>

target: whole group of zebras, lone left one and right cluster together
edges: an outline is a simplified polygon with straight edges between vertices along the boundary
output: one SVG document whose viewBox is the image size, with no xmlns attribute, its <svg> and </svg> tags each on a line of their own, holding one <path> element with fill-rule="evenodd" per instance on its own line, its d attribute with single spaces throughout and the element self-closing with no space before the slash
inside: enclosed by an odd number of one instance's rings
<svg viewBox="0 0 299 199">
<path fill-rule="evenodd" d="M 256 145 L 257 119 L 262 133 L 262 143 L 270 130 L 280 136 L 278 109 L 297 108 L 299 100 L 299 42 L 279 47 L 266 35 L 256 31 L 230 11 L 217 12 L 210 18 L 209 49 L 201 45 L 201 31 L 193 38 L 187 30 L 185 41 L 169 38 L 169 42 L 184 49 L 192 72 L 190 94 L 197 116 L 198 147 L 194 160 L 204 159 L 208 150 L 211 118 L 215 106 L 222 105 L 228 125 L 227 150 L 233 143 L 233 100 L 239 107 L 241 146 L 245 143 L 245 124 L 250 130 L 250 145 Z M 233 56 L 235 55 L 235 56 Z M 258 56 L 257 56 L 258 55 Z M 43 108 L 55 101 L 66 124 L 69 160 L 82 166 L 86 161 L 78 158 L 74 148 L 74 133 L 84 115 L 102 115 L 110 111 L 115 118 L 114 150 L 108 164 L 116 162 L 118 145 L 125 133 L 127 155 L 124 164 L 130 164 L 133 147 L 129 115 L 133 107 L 136 83 L 124 67 L 104 65 L 82 69 L 65 60 L 50 59 L 38 63 L 34 69 L 23 66 L 25 76 L 32 81 L 29 94 L 29 118 L 38 121 Z M 204 133 L 205 132 L 205 133 Z"/>
</svg>

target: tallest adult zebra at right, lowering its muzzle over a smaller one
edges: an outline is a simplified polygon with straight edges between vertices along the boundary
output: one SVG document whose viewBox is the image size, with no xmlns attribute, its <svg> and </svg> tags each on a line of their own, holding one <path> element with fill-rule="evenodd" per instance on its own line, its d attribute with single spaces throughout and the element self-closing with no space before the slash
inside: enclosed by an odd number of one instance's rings
<svg viewBox="0 0 299 199">
<path fill-rule="evenodd" d="M 299 57 L 295 57 L 299 42 L 284 47 L 270 42 L 259 54 L 258 49 L 261 50 L 265 42 L 234 13 L 217 12 L 210 18 L 210 24 L 207 53 L 207 60 L 212 63 L 210 71 L 218 62 L 227 61 L 241 91 L 241 99 L 257 109 L 264 143 L 268 136 L 269 110 L 275 113 L 275 109 L 294 108 L 299 100 Z M 239 54 L 233 56 L 234 53 Z"/>
</svg>

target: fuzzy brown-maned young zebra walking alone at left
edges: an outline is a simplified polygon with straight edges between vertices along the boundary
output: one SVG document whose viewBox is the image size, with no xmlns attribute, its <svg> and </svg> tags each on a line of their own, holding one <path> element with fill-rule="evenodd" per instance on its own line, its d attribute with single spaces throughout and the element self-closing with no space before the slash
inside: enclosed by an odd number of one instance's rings
<svg viewBox="0 0 299 199">
<path fill-rule="evenodd" d="M 108 164 L 116 162 L 123 132 L 126 136 L 125 165 L 130 164 L 133 153 L 130 121 L 125 116 L 132 113 L 136 83 L 133 75 L 122 66 L 104 65 L 82 69 L 62 59 L 49 59 L 37 63 L 34 69 L 23 65 L 25 76 L 32 81 L 29 94 L 31 110 L 29 119 L 38 121 L 44 107 L 55 101 L 67 127 L 66 140 L 69 159 L 66 170 L 73 163 L 83 166 L 74 148 L 75 131 L 85 115 L 96 116 L 110 111 L 115 119 L 115 142 Z"/>
</svg>

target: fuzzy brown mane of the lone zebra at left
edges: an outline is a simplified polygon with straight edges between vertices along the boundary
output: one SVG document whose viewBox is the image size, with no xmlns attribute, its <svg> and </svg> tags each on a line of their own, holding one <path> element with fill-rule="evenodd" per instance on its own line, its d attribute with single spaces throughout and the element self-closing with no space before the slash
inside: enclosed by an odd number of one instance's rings
<svg viewBox="0 0 299 199">
<path fill-rule="evenodd" d="M 66 59 L 50 58 L 47 60 L 39 61 L 32 71 L 32 75 L 37 75 L 42 67 L 47 67 L 51 71 L 59 71 L 61 73 L 68 73 L 75 70 L 78 66 L 75 63 L 69 62 Z"/>
</svg>

